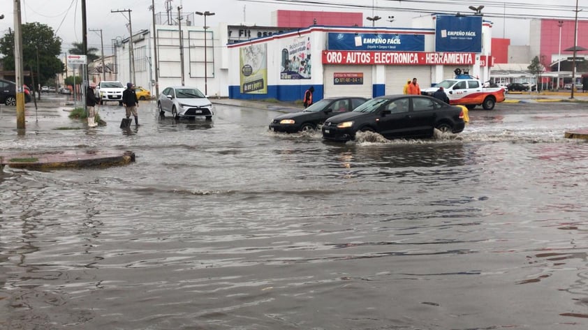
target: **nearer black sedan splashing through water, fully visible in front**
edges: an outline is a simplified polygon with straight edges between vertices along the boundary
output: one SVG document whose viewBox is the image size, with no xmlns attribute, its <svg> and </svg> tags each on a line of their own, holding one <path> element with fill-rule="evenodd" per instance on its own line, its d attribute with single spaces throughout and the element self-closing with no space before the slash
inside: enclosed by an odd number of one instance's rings
<svg viewBox="0 0 588 330">
<path fill-rule="evenodd" d="M 352 112 L 330 117 L 323 125 L 323 138 L 355 140 L 358 131 L 376 132 L 387 139 L 432 137 L 434 128 L 460 133 L 464 127 L 461 107 L 430 96 L 390 95 L 372 98 Z"/>
</svg>

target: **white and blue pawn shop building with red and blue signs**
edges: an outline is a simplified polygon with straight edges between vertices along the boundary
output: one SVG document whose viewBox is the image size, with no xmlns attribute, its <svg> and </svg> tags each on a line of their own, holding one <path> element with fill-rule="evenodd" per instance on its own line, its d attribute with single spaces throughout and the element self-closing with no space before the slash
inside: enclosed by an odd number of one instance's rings
<svg viewBox="0 0 588 330">
<path fill-rule="evenodd" d="M 316 99 L 372 98 L 402 93 L 413 77 L 429 87 L 456 68 L 485 81 L 491 28 L 480 16 L 432 15 L 406 29 L 312 26 L 235 43 L 227 46 L 228 94 L 300 100 L 313 86 Z"/>
</svg>

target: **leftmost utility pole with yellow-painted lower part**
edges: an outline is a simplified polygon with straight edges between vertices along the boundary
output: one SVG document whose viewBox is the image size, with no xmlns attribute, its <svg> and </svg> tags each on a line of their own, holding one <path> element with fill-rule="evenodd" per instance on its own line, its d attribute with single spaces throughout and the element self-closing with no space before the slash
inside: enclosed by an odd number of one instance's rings
<svg viewBox="0 0 588 330">
<path fill-rule="evenodd" d="M 14 0 L 14 64 L 16 80 L 16 128 L 24 130 L 24 88 L 22 83 L 22 27 L 20 0 Z"/>
</svg>

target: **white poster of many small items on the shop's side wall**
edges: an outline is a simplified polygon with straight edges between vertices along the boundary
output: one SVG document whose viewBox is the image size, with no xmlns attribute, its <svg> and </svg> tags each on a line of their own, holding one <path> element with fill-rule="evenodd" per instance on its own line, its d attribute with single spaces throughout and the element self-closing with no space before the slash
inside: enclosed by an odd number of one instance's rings
<svg viewBox="0 0 588 330">
<path fill-rule="evenodd" d="M 280 79 L 310 79 L 310 37 L 287 39 L 281 50 Z"/>
</svg>

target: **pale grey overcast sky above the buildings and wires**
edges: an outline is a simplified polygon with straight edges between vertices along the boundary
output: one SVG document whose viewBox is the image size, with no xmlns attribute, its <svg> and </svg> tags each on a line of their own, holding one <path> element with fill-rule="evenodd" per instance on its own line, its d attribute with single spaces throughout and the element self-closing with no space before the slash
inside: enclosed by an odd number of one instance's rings
<svg viewBox="0 0 588 330">
<path fill-rule="evenodd" d="M 14 0 L 0 0 L 0 34 L 14 29 Z M 316 5 L 315 3 L 322 3 Z M 582 2 L 582 1 L 581 1 Z M 585 2 L 585 1 L 584 1 Z M 156 13 L 165 13 L 166 0 L 155 0 Z M 152 14 L 149 10 L 152 0 L 87 0 L 88 29 L 102 29 L 105 53 L 110 54 L 112 39 L 117 36 L 128 36 L 126 13 L 111 13 L 111 10 L 131 9 L 133 31 L 149 29 L 152 26 Z M 207 17 L 208 26 L 216 26 L 220 22 L 241 24 L 242 22 L 259 26 L 270 26 L 271 13 L 283 10 L 316 10 L 361 12 L 365 17 L 374 15 L 383 17 L 376 25 L 383 27 L 411 27 L 411 19 L 421 15 L 430 15 L 431 11 L 439 13 L 472 14 L 469 6 L 485 6 L 481 10 L 485 20 L 492 22 L 494 38 L 510 38 L 513 45 L 529 43 L 529 18 L 550 17 L 571 19 L 575 15 L 576 0 L 513 0 L 475 1 L 475 0 L 438 0 L 438 1 L 395 1 L 395 0 L 172 0 L 172 13 L 177 15 L 177 7 L 182 12 L 210 11 L 214 16 Z M 22 22 L 40 22 L 57 31 L 63 40 L 63 51 L 71 48 L 71 43 L 82 41 L 82 0 L 21 0 Z M 580 6 L 579 19 L 588 19 L 588 7 Z M 165 14 L 163 14 L 165 15 Z M 394 16 L 394 22 L 388 17 Z M 522 19 L 521 17 L 527 17 Z M 203 25 L 202 16 L 195 17 L 196 25 Z M 505 24 L 506 22 L 506 24 Z M 369 26 L 370 22 L 365 21 Z M 100 48 L 99 33 L 89 31 L 90 47 Z"/>
</svg>

